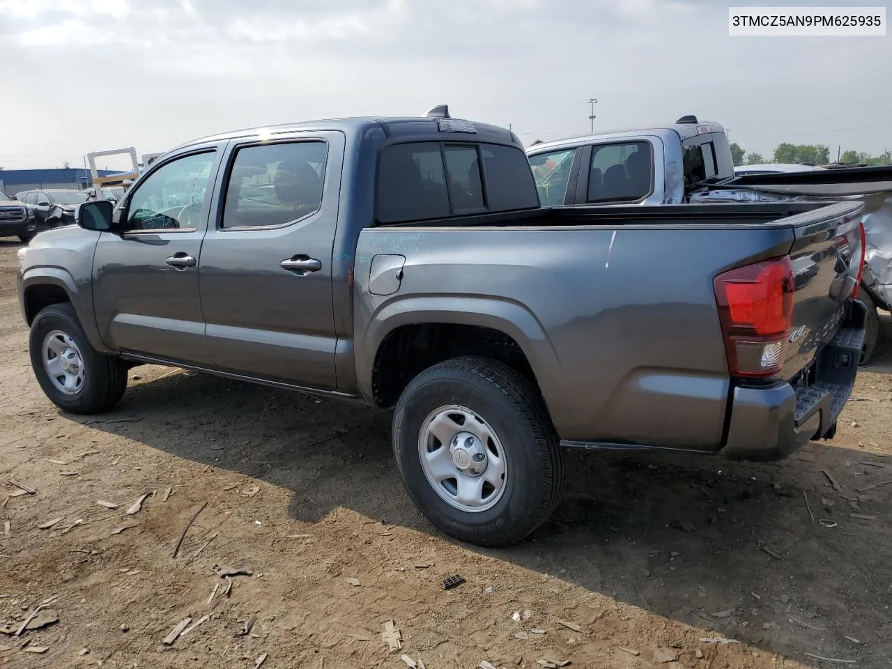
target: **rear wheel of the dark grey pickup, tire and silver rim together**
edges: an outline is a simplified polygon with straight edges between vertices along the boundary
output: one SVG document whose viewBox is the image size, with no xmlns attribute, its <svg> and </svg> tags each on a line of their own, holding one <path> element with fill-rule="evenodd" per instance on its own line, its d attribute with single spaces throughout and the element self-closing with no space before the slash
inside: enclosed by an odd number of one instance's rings
<svg viewBox="0 0 892 669">
<path fill-rule="evenodd" d="M 533 384 L 491 359 L 463 357 L 425 369 L 393 414 L 403 484 L 443 533 L 509 546 L 560 501 L 565 464 Z"/>
</svg>

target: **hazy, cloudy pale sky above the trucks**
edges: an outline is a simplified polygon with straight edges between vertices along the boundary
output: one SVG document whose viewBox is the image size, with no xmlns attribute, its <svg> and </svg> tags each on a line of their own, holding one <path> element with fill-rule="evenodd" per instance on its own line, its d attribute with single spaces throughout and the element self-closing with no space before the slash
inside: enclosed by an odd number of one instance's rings
<svg viewBox="0 0 892 669">
<path fill-rule="evenodd" d="M 766 157 L 780 142 L 892 149 L 892 30 L 729 37 L 729 4 L 0 0 L 0 167 L 438 103 L 529 145 L 587 134 L 590 98 L 596 131 L 695 114 Z"/>
</svg>

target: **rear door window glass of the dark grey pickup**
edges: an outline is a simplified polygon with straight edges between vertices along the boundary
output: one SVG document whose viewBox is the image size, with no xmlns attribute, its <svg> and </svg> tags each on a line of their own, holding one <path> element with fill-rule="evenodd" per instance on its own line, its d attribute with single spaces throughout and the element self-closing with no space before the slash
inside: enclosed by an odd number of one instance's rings
<svg viewBox="0 0 892 669">
<path fill-rule="evenodd" d="M 245 146 L 229 172 L 221 227 L 271 227 L 322 206 L 326 142 Z"/>
</svg>

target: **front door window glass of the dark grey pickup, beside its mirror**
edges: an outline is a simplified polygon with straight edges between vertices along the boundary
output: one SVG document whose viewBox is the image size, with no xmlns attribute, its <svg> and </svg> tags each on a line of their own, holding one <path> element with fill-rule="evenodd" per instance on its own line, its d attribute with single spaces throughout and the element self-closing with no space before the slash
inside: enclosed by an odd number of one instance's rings
<svg viewBox="0 0 892 669">
<path fill-rule="evenodd" d="M 194 153 L 162 165 L 128 203 L 128 230 L 194 229 L 200 225 L 214 153 Z"/>
</svg>

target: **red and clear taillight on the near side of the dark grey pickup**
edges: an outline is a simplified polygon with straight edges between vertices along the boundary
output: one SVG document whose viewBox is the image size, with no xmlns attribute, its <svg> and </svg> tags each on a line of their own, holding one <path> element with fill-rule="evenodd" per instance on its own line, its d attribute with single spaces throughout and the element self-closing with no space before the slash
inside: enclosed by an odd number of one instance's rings
<svg viewBox="0 0 892 669">
<path fill-rule="evenodd" d="M 731 269 L 715 277 L 713 285 L 731 376 L 777 374 L 793 324 L 789 256 Z"/>
</svg>

